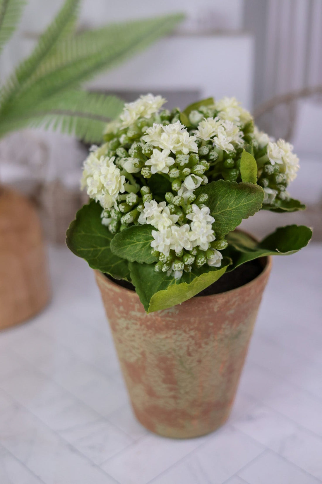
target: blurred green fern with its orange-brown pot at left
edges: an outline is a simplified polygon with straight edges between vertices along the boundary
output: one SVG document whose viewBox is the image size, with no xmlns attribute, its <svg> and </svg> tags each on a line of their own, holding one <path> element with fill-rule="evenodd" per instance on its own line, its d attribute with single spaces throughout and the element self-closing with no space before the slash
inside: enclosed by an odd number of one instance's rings
<svg viewBox="0 0 322 484">
<path fill-rule="evenodd" d="M 0 53 L 25 2 L 0 0 Z M 172 30 L 182 15 L 74 32 L 80 0 L 66 0 L 30 56 L 0 87 L 0 138 L 26 127 L 60 129 L 100 142 L 123 101 L 88 92 L 90 79 Z M 42 230 L 28 199 L 0 183 L 0 329 L 38 313 L 50 299 Z"/>
</svg>

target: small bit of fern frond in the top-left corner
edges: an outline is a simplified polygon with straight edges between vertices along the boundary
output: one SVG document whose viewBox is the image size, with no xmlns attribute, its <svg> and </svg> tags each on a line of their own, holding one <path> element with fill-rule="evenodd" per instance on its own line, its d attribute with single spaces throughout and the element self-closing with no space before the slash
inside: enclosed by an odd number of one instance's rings
<svg viewBox="0 0 322 484">
<path fill-rule="evenodd" d="M 0 0 L 0 52 L 14 33 L 25 4 L 25 0 Z"/>
</svg>

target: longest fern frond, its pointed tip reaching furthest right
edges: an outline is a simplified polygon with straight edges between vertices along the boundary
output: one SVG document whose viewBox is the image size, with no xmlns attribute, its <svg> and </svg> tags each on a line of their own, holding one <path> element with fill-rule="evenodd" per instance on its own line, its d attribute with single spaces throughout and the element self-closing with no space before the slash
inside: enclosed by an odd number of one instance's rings
<svg viewBox="0 0 322 484">
<path fill-rule="evenodd" d="M 21 91 L 14 103 L 2 106 L 2 111 L 9 114 L 24 110 L 59 91 L 78 87 L 80 82 L 147 47 L 181 19 L 182 15 L 168 15 L 126 22 L 66 39 L 52 56 L 52 69 Z"/>
</svg>

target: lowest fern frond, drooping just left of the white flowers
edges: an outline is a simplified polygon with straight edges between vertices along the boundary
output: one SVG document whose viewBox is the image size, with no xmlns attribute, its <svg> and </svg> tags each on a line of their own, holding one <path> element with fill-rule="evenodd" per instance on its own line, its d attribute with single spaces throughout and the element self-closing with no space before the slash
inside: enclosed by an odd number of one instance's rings
<svg viewBox="0 0 322 484">
<path fill-rule="evenodd" d="M 116 118 L 124 103 L 116 96 L 87 91 L 65 91 L 45 100 L 31 110 L 6 116 L 0 137 L 26 127 L 44 127 L 74 135 L 90 143 L 100 143 L 107 122 Z"/>
</svg>

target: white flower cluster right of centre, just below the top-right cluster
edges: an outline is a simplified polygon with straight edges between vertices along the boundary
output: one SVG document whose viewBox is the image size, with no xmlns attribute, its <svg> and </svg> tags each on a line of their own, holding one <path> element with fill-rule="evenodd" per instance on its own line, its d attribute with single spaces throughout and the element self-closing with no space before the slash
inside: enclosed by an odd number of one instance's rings
<svg viewBox="0 0 322 484">
<path fill-rule="evenodd" d="M 212 138 L 213 146 L 227 152 L 234 151 L 236 146 L 244 144 L 243 133 L 238 126 L 233 121 L 223 121 L 219 117 L 204 118 L 199 122 L 195 134 L 206 141 Z"/>
</svg>

